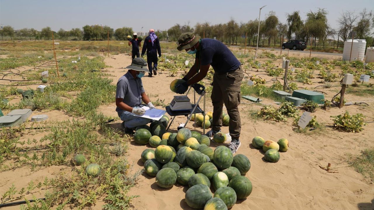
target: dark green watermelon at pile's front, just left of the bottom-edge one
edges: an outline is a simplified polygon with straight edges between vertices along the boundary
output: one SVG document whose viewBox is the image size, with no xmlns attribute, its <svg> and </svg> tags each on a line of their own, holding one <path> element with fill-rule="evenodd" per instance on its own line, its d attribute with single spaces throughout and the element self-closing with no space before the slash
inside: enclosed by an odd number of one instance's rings
<svg viewBox="0 0 374 210">
<path fill-rule="evenodd" d="M 212 193 L 206 185 L 194 185 L 186 192 L 186 203 L 193 209 L 202 209 L 211 200 Z"/>
</svg>

